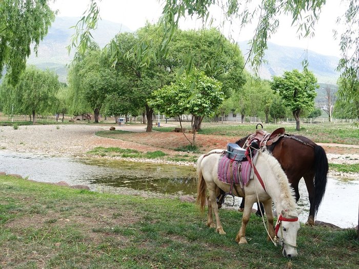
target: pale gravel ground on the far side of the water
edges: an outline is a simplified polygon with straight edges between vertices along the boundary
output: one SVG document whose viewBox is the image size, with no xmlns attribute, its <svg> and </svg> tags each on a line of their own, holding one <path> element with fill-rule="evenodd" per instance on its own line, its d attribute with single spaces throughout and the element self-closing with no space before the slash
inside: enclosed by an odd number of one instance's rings
<svg viewBox="0 0 359 269">
<path fill-rule="evenodd" d="M 139 151 L 155 151 L 157 148 L 135 142 L 99 137 L 97 131 L 109 130 L 101 125 L 35 125 L 0 127 L 0 149 L 12 152 L 45 154 L 50 156 L 81 156 L 94 147 L 121 147 Z M 123 126 L 117 130 L 144 132 L 145 127 Z M 166 153 L 173 151 L 161 149 Z"/>
</svg>

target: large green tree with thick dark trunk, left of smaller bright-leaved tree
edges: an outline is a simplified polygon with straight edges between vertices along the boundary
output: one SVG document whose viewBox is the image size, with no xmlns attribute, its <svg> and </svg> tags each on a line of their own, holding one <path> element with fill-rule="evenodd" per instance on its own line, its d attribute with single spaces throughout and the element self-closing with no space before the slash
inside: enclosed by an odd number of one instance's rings
<svg viewBox="0 0 359 269">
<path fill-rule="evenodd" d="M 148 39 L 149 38 L 149 39 Z M 147 24 L 135 33 L 120 33 L 110 43 L 109 53 L 115 58 L 116 69 L 131 81 L 128 84 L 125 99 L 133 104 L 135 109 L 143 107 L 146 110 L 146 132 L 152 131 L 153 108 L 149 106 L 147 99 L 158 88 L 168 85 L 173 80 L 173 62 L 166 58 L 165 52 L 158 54 L 155 59 L 145 65 L 145 55 L 141 51 L 134 53 L 134 48 L 142 42 L 144 48 L 156 47 L 161 42 L 158 26 Z M 144 49 L 143 48 L 143 49 Z M 115 49 L 115 53 L 112 50 Z"/>
</svg>

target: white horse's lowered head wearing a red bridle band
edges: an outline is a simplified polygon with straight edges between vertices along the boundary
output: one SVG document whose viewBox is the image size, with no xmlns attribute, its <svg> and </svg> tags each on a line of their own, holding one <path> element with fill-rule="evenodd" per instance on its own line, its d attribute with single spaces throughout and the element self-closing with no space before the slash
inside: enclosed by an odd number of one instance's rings
<svg viewBox="0 0 359 269">
<path fill-rule="evenodd" d="M 298 215 L 303 209 L 288 213 L 282 210 L 275 225 L 275 236 L 283 247 L 283 256 L 294 258 L 298 255 L 296 252 L 296 234 L 300 228 Z"/>
</svg>

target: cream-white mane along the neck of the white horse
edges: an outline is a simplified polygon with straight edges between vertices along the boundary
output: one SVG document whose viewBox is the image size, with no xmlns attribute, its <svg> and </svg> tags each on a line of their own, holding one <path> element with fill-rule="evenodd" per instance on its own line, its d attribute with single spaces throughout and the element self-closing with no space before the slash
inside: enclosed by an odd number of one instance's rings
<svg viewBox="0 0 359 269">
<path fill-rule="evenodd" d="M 273 174 L 276 177 L 276 181 L 280 185 L 279 188 L 280 190 L 282 190 L 281 203 L 283 208 L 288 209 L 290 211 L 295 211 L 296 208 L 296 203 L 294 199 L 295 193 L 288 182 L 288 178 L 284 173 L 281 164 L 267 150 L 263 152 L 260 151 L 260 154 L 267 160 L 269 168 L 272 170 Z"/>
</svg>

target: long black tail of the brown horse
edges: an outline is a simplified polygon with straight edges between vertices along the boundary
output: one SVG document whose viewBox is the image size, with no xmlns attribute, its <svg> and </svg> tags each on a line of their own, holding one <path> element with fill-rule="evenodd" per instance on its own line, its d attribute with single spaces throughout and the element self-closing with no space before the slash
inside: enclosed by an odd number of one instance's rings
<svg viewBox="0 0 359 269">
<path fill-rule="evenodd" d="M 327 174 L 329 170 L 328 159 L 324 149 L 321 146 L 314 146 L 314 215 L 318 212 L 319 206 L 323 200 L 325 189 L 327 187 Z"/>
</svg>

